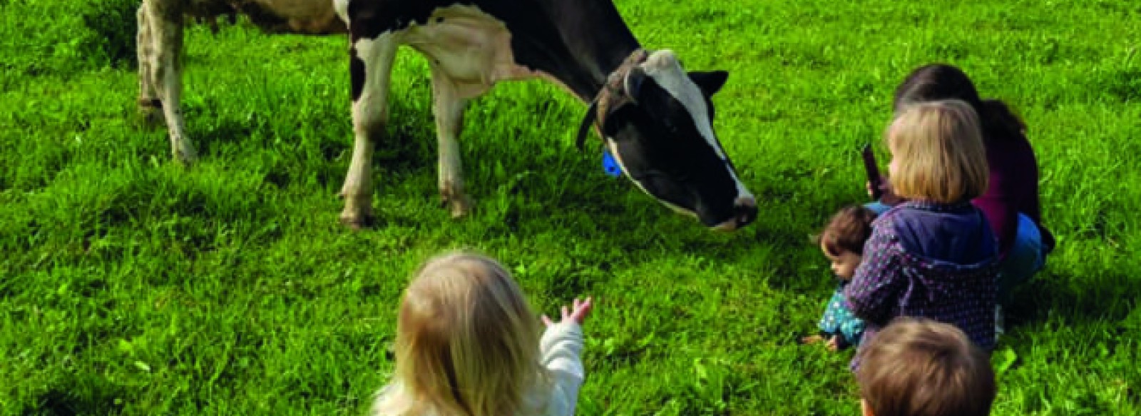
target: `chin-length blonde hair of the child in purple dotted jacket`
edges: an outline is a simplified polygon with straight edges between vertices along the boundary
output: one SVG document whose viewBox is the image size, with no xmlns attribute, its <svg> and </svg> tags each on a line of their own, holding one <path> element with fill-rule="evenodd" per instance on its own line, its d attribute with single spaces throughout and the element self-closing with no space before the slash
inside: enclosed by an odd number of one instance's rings
<svg viewBox="0 0 1141 416">
<path fill-rule="evenodd" d="M 896 170 L 891 185 L 906 199 L 954 203 L 987 191 L 987 153 L 979 117 L 958 99 L 915 103 L 888 127 Z"/>
</svg>

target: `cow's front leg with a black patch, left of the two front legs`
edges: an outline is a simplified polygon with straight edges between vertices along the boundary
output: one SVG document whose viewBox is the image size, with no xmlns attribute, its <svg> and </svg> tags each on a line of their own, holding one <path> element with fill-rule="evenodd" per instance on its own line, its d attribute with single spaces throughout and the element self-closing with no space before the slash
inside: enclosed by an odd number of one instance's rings
<svg viewBox="0 0 1141 416">
<path fill-rule="evenodd" d="M 358 25 L 359 26 L 359 25 Z M 355 29 L 350 26 L 350 31 Z M 398 43 L 391 33 L 365 38 L 351 33 L 349 78 L 353 83 L 353 161 L 341 186 L 341 223 L 354 230 L 372 225 L 372 152 L 385 142 L 388 88 Z"/>
</svg>

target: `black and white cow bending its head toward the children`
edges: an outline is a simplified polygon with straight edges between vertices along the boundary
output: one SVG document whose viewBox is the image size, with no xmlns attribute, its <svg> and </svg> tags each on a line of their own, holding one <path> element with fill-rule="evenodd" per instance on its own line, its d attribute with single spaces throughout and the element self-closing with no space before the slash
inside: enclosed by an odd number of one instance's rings
<svg viewBox="0 0 1141 416">
<path fill-rule="evenodd" d="M 755 199 L 713 130 L 710 97 L 728 73 L 687 72 L 672 51 L 644 50 L 610 0 L 144 0 L 139 103 L 162 109 L 180 160 L 194 159 L 178 110 L 181 17 L 235 13 L 273 31 L 348 30 L 355 145 L 341 221 L 350 226 L 373 219 L 370 162 L 389 139 L 389 82 L 400 45 L 423 54 L 431 69 L 439 192 L 453 216 L 471 205 L 456 142 L 468 101 L 497 81 L 535 77 L 591 103 L 580 147 L 597 128 L 645 192 L 715 230 L 756 216 Z"/>
</svg>

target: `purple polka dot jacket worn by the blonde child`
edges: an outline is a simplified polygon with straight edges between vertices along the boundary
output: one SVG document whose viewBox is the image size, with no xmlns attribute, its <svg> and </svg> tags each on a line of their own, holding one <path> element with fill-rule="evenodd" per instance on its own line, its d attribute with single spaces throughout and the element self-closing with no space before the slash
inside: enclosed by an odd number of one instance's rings
<svg viewBox="0 0 1141 416">
<path fill-rule="evenodd" d="M 844 295 L 867 322 L 860 349 L 896 317 L 955 325 L 989 351 L 998 243 L 982 213 L 970 202 L 908 201 L 872 223 L 864 258 Z M 859 366 L 859 354 L 852 369 Z"/>
</svg>

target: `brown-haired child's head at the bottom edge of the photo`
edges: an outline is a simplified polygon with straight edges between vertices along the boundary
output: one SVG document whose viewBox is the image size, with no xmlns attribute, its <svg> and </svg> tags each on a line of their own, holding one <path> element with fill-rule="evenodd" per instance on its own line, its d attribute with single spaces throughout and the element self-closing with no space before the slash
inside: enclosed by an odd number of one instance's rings
<svg viewBox="0 0 1141 416">
<path fill-rule="evenodd" d="M 952 325 L 900 318 L 860 352 L 865 416 L 986 416 L 996 387 L 990 359 Z"/>
</svg>

